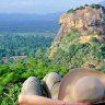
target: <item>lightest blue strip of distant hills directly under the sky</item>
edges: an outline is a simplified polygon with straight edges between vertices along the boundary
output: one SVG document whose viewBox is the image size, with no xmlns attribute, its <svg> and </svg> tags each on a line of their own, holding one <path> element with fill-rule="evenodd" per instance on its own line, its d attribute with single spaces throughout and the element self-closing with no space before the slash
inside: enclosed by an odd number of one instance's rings
<svg viewBox="0 0 105 105">
<path fill-rule="evenodd" d="M 18 14 L 18 13 L 0 13 L 0 22 L 2 21 L 57 21 L 61 13 L 50 14 Z"/>
</svg>

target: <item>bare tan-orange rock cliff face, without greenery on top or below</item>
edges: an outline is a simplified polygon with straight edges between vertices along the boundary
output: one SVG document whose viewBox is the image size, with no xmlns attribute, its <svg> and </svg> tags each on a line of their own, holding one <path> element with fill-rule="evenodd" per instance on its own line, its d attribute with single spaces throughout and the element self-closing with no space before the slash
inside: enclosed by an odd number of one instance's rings
<svg viewBox="0 0 105 105">
<path fill-rule="evenodd" d="M 89 5 L 72 13 L 63 13 L 59 19 L 60 30 L 54 39 L 52 46 L 56 46 L 58 42 L 61 42 L 63 36 L 67 35 L 72 28 L 77 28 L 80 32 L 81 43 L 82 37 L 85 37 L 89 40 L 89 35 L 94 35 L 94 37 L 104 37 L 104 19 L 105 16 L 103 12 L 103 7 L 100 9 L 94 9 Z M 83 43 L 86 42 L 83 40 Z"/>
</svg>

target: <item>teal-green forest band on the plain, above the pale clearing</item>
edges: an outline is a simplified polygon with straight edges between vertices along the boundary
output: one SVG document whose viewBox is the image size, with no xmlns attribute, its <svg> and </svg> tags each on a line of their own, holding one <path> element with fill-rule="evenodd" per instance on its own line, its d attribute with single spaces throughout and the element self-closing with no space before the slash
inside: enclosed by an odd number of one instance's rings
<svg viewBox="0 0 105 105">
<path fill-rule="evenodd" d="M 0 57 L 33 55 L 39 47 L 49 47 L 54 36 L 51 32 L 1 34 Z"/>
</svg>

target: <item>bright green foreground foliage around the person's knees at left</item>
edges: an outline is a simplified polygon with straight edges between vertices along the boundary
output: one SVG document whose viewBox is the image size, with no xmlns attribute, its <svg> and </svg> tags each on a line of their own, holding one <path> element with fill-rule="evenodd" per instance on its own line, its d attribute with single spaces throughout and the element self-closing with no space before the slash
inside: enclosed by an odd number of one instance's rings
<svg viewBox="0 0 105 105">
<path fill-rule="evenodd" d="M 16 105 L 22 83 L 28 77 L 33 75 L 42 80 L 51 71 L 62 75 L 66 73 L 66 67 L 54 65 L 46 56 L 44 58 L 39 56 L 28 57 L 24 61 L 19 60 L 10 66 L 0 66 L 0 105 Z"/>
</svg>

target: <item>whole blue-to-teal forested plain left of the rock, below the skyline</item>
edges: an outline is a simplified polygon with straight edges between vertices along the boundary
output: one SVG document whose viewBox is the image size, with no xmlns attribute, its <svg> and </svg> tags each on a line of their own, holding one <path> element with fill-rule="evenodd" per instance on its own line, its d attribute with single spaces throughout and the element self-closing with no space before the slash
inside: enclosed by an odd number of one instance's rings
<svg viewBox="0 0 105 105">
<path fill-rule="evenodd" d="M 15 59 L 24 59 L 36 52 L 38 48 L 47 48 L 57 34 L 57 18 L 50 15 L 9 15 L 0 18 L 0 63 L 11 63 Z M 11 18 L 8 19 L 7 16 Z M 22 18 L 21 18 L 22 16 Z M 26 18 L 25 18 L 26 16 Z M 39 15 L 42 16 L 42 15 Z M 18 19 L 19 18 L 19 19 Z M 25 18 L 25 20 L 24 20 Z"/>
</svg>

